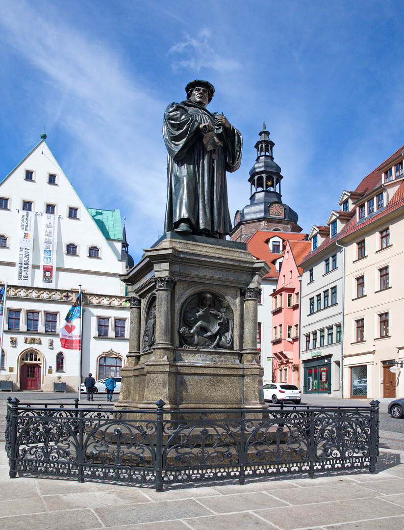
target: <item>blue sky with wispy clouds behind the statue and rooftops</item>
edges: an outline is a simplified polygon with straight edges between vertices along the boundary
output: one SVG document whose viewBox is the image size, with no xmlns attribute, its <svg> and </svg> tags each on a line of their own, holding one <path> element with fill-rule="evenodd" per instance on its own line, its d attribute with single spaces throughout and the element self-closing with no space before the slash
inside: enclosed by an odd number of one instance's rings
<svg viewBox="0 0 404 530">
<path fill-rule="evenodd" d="M 231 217 L 266 121 L 309 232 L 404 144 L 401 0 L 0 0 L 0 176 L 47 144 L 88 207 L 119 208 L 137 260 L 161 235 L 166 106 L 194 78 L 243 134 Z"/>
</svg>

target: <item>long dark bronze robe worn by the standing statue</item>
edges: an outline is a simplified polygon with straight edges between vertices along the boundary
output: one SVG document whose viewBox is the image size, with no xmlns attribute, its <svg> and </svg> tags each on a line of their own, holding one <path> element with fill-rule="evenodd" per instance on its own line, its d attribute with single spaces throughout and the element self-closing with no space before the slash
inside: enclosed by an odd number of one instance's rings
<svg viewBox="0 0 404 530">
<path fill-rule="evenodd" d="M 164 114 L 163 136 L 168 151 L 164 230 L 172 231 L 181 219 L 188 219 L 193 233 L 219 237 L 232 228 L 226 171 L 239 168 L 243 138 L 233 126 L 229 131 L 223 128 L 223 145 L 207 151 L 201 123 L 214 126 L 214 116 L 192 101 L 172 103 Z"/>
</svg>

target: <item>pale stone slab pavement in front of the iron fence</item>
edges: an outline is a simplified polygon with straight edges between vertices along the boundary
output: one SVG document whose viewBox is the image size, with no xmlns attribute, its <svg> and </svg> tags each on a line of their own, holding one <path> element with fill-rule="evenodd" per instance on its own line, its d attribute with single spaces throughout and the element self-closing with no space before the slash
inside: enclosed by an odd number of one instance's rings
<svg viewBox="0 0 404 530">
<path fill-rule="evenodd" d="M 2 530 L 403 530 L 404 453 L 378 471 L 151 488 L 8 478 L 0 452 Z"/>
</svg>

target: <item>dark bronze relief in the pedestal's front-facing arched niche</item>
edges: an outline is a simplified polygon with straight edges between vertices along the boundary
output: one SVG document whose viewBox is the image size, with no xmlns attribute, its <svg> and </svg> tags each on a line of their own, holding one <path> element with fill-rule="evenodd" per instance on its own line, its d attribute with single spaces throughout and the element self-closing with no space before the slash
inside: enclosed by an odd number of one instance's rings
<svg viewBox="0 0 404 530">
<path fill-rule="evenodd" d="M 224 298 L 204 291 L 188 298 L 181 311 L 182 348 L 232 349 L 233 312 Z"/>
</svg>

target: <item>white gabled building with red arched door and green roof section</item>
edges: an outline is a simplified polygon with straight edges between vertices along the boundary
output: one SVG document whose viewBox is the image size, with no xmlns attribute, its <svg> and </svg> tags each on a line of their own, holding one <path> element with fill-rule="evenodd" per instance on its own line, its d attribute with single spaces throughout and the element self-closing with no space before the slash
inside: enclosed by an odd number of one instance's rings
<svg viewBox="0 0 404 530">
<path fill-rule="evenodd" d="M 0 379 L 10 377 L 14 390 L 51 391 L 60 376 L 77 391 L 79 352 L 60 347 L 59 328 L 81 285 L 82 376 L 119 375 L 129 344 L 119 275 L 133 263 L 120 211 L 87 209 L 44 138 L 0 183 L 0 283 L 8 284 Z M 32 223 L 29 281 L 18 275 L 22 215 Z M 51 241 L 49 272 L 41 264 Z"/>
</svg>

